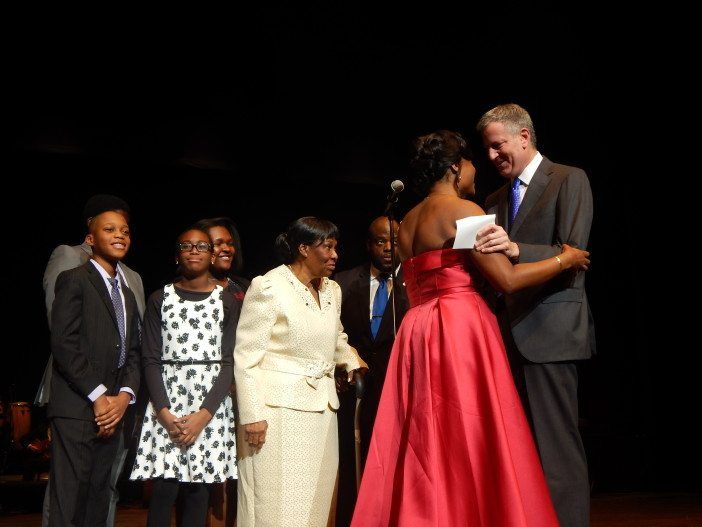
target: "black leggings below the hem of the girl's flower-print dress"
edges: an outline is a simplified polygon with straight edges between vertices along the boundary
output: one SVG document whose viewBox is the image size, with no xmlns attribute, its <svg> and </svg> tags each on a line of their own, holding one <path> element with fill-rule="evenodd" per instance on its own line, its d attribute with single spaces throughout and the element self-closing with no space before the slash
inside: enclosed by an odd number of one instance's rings
<svg viewBox="0 0 702 527">
<path fill-rule="evenodd" d="M 173 505 L 178 498 L 178 491 L 183 493 L 183 515 L 181 525 L 184 527 L 204 527 L 207 508 L 210 501 L 209 485 L 206 483 L 181 483 L 177 479 L 154 479 L 147 527 L 169 527 Z"/>
</svg>

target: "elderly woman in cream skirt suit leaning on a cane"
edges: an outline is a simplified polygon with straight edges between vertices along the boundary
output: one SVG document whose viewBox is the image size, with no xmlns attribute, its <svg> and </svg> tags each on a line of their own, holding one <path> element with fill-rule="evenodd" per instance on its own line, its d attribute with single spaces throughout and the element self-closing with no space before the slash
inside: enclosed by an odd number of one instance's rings
<svg viewBox="0 0 702 527">
<path fill-rule="evenodd" d="M 276 240 L 285 265 L 254 278 L 237 327 L 237 526 L 319 526 L 338 469 L 334 369 L 366 367 L 349 346 L 327 278 L 336 226 L 304 217 Z"/>
</svg>

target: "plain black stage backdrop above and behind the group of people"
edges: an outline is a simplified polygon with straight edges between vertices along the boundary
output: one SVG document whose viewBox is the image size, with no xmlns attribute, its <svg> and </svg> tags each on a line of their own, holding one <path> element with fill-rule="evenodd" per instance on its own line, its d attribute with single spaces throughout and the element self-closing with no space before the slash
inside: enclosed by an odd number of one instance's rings
<svg viewBox="0 0 702 527">
<path fill-rule="evenodd" d="M 34 398 L 49 353 L 44 266 L 56 245 L 82 241 L 90 195 L 130 203 L 126 261 L 148 293 L 171 277 L 177 234 L 207 216 L 236 221 L 249 277 L 277 265 L 276 234 L 303 215 L 341 227 L 345 269 L 363 260 L 389 182 L 407 182 L 418 134 L 469 137 L 482 203 L 501 181 L 474 125 L 517 102 L 539 150 L 584 168 L 595 197 L 599 354 L 583 364 L 581 390 L 593 489 L 699 489 L 689 346 L 657 322 L 668 279 L 639 230 L 642 203 L 665 191 L 635 184 L 652 150 L 632 102 L 644 34 L 623 37 L 621 20 L 592 6 L 535 9 L 312 3 L 80 29 L 24 17 L 4 101 L 2 397 Z M 406 190 L 399 212 L 416 201 Z"/>
</svg>

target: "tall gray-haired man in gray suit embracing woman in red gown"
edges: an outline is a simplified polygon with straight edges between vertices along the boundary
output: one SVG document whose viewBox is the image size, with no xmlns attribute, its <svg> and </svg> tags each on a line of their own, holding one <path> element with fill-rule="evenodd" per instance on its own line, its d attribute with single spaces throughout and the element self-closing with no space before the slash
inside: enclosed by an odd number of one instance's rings
<svg viewBox="0 0 702 527">
<path fill-rule="evenodd" d="M 477 129 L 490 161 L 508 181 L 487 198 L 485 209 L 497 215 L 498 226 L 479 233 L 476 249 L 502 251 L 513 262 L 558 255 L 564 243 L 585 249 L 593 211 L 585 172 L 542 156 L 531 117 L 516 104 L 488 111 Z M 590 358 L 595 349 L 584 284 L 583 273 L 562 276 L 498 301 L 515 383 L 564 527 L 590 524 L 575 362 Z"/>
</svg>

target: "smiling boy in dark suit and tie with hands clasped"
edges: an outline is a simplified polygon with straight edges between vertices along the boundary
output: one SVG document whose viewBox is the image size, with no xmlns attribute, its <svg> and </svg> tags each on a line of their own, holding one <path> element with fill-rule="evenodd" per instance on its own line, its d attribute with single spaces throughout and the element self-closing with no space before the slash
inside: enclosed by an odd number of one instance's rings
<svg viewBox="0 0 702 527">
<path fill-rule="evenodd" d="M 105 524 L 121 420 L 139 389 L 139 315 L 118 272 L 127 220 L 95 216 L 86 242 L 90 261 L 58 276 L 52 308 L 50 526 Z"/>
</svg>

